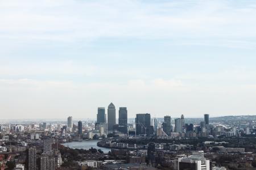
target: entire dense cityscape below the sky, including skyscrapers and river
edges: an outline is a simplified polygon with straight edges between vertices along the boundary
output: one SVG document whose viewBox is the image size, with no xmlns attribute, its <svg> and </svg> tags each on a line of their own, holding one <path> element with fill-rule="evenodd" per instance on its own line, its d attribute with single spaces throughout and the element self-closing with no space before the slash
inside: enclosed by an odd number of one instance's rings
<svg viewBox="0 0 256 170">
<path fill-rule="evenodd" d="M 96 121 L 2 121 L 0 168 L 256 169 L 256 116 L 116 114 L 110 103 Z"/>
</svg>

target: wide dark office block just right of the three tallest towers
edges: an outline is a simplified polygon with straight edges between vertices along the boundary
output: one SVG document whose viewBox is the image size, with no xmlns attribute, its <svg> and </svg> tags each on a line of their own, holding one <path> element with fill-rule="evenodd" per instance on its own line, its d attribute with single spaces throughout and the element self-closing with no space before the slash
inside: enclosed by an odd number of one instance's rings
<svg viewBox="0 0 256 170">
<path fill-rule="evenodd" d="M 153 126 L 150 125 L 150 114 L 136 114 L 135 124 L 136 124 L 136 134 L 152 134 L 154 133 Z"/>
</svg>

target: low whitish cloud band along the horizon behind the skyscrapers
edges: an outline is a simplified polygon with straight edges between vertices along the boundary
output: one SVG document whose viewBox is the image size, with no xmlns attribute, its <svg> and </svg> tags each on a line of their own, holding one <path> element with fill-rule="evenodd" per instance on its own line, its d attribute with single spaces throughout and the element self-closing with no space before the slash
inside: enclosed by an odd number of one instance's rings
<svg viewBox="0 0 256 170">
<path fill-rule="evenodd" d="M 111 101 L 117 107 L 127 106 L 129 117 L 143 112 L 157 117 L 166 114 L 200 117 L 205 112 L 212 116 L 256 112 L 253 102 L 255 84 L 199 87 L 175 79 L 150 82 L 137 79 L 126 84 L 0 79 L 0 92 L 1 112 L 6 118 L 20 117 L 20 114 L 30 118 L 51 118 L 53 115 L 64 118 L 70 114 L 95 118 L 97 107 Z"/>
</svg>

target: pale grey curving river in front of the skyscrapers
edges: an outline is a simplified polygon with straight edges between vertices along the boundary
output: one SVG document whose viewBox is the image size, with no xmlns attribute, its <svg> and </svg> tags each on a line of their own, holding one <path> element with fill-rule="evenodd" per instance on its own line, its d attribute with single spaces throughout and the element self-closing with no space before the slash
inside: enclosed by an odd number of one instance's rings
<svg viewBox="0 0 256 170">
<path fill-rule="evenodd" d="M 89 140 L 89 141 L 73 141 L 73 142 L 67 142 L 67 143 L 61 143 L 61 145 L 68 146 L 69 148 L 83 148 L 84 150 L 89 150 L 91 147 L 98 149 L 101 149 L 104 153 L 108 153 L 110 151 L 110 148 L 105 147 L 98 147 L 97 146 L 98 140 Z"/>
</svg>

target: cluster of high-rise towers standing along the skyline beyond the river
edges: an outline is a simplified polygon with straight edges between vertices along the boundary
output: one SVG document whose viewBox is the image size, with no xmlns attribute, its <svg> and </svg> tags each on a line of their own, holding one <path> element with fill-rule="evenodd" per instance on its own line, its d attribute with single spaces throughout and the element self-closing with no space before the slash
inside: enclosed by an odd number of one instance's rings
<svg viewBox="0 0 256 170">
<path fill-rule="evenodd" d="M 172 125 L 171 116 L 164 116 L 164 121 L 162 124 L 159 124 L 157 118 L 152 118 L 149 113 L 139 113 L 136 114 L 135 124 L 129 125 L 130 128 L 135 128 L 129 132 L 129 127 L 127 124 L 127 108 L 119 107 L 119 117 L 118 124 L 116 121 L 116 111 L 115 105 L 110 103 L 105 111 L 105 107 L 98 107 L 97 113 L 97 122 L 95 124 L 95 130 L 99 131 L 100 137 L 107 134 L 122 133 L 130 135 L 130 133 L 135 133 L 135 135 L 174 135 L 173 133 L 186 133 L 186 131 L 193 131 L 193 124 L 185 124 L 184 115 L 181 114 L 180 118 L 175 118 L 175 125 Z M 135 125 L 135 126 L 134 126 Z M 200 131 L 205 131 L 206 125 L 209 125 L 209 114 L 204 114 L 204 121 L 200 122 Z M 197 131 L 199 130 L 196 127 Z M 68 117 L 67 128 L 64 127 L 64 130 L 67 129 L 72 131 L 73 122 L 72 117 Z M 78 134 L 82 135 L 82 122 L 78 122 Z M 93 134 L 92 134 L 93 135 Z M 134 134 L 131 134 L 134 135 Z"/>
</svg>

